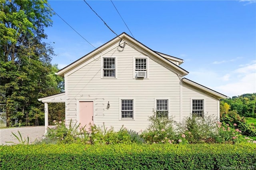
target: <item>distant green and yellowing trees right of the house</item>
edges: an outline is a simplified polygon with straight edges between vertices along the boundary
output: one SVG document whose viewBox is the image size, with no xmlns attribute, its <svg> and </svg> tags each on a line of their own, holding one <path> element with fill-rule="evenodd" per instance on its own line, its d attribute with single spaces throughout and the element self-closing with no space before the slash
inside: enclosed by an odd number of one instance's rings
<svg viewBox="0 0 256 170">
<path fill-rule="evenodd" d="M 220 101 L 221 115 L 234 110 L 244 117 L 256 117 L 256 93 L 243 94 Z"/>
</svg>

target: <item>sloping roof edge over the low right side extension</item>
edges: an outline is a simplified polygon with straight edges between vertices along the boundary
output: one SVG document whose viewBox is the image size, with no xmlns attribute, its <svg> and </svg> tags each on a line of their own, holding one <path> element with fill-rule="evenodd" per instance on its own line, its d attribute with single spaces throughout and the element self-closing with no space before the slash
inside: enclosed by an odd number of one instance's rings
<svg viewBox="0 0 256 170">
<path fill-rule="evenodd" d="M 208 87 L 205 87 L 203 85 L 200 85 L 192 80 L 189 80 L 187 78 L 182 78 L 182 82 L 183 83 L 186 83 L 187 85 L 190 85 L 192 87 L 195 87 L 196 89 L 199 89 L 201 91 L 204 91 L 210 95 L 213 95 L 214 97 L 217 97 L 218 99 L 226 99 L 228 98 L 227 96 L 221 94 L 221 93 L 218 93 L 217 91 L 214 91 L 212 89 L 209 89 Z"/>
</svg>

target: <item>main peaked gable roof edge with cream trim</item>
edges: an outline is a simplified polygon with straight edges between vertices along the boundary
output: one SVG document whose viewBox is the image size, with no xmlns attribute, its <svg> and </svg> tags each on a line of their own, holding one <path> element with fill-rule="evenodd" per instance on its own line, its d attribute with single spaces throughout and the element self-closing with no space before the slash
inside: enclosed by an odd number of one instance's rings
<svg viewBox="0 0 256 170">
<path fill-rule="evenodd" d="M 138 47 L 142 48 L 143 50 L 147 51 L 148 53 L 150 53 L 151 55 L 156 56 L 158 59 L 160 59 L 161 61 L 164 61 L 165 63 L 167 63 L 168 65 L 170 65 L 170 67 L 174 68 L 175 70 L 179 71 L 180 75 L 183 77 L 184 75 L 188 75 L 188 71 L 186 71 L 185 69 L 182 69 L 181 67 L 179 67 L 178 65 L 172 63 L 170 60 L 168 60 L 166 57 L 163 57 L 161 55 L 161 53 L 158 53 L 150 48 L 148 48 L 146 45 L 138 42 L 137 40 L 135 40 L 134 38 L 132 38 L 131 36 L 129 36 L 128 34 L 126 34 L 125 32 L 123 32 L 122 34 L 120 34 L 119 36 L 117 36 L 116 38 L 113 38 L 112 40 L 110 40 L 109 42 L 106 42 L 105 44 L 101 45 L 100 47 L 98 47 L 97 49 L 91 51 L 90 53 L 84 55 L 83 57 L 81 57 L 80 59 L 74 61 L 73 63 L 71 63 L 70 65 L 64 67 L 63 69 L 60 69 L 56 74 L 60 75 L 62 77 L 64 77 L 64 74 L 67 73 L 68 71 L 71 71 L 73 69 L 76 69 L 76 67 L 78 65 L 80 65 L 81 63 L 83 63 L 84 61 L 86 61 L 88 58 L 93 57 L 94 55 L 98 55 L 101 53 L 101 51 L 103 51 L 104 49 L 110 47 L 111 45 L 118 43 L 120 41 L 120 38 L 124 41 L 129 41 L 131 43 L 133 43 L 133 45 L 138 45 Z M 164 55 L 164 54 L 163 54 Z M 172 56 L 170 56 L 172 57 Z M 172 58 L 174 59 L 174 58 Z M 176 58 L 175 60 L 178 60 L 178 58 Z M 179 60 L 180 61 L 180 60 Z M 183 61 L 183 60 L 182 60 Z M 180 61 L 181 62 L 181 61 Z"/>
</svg>

